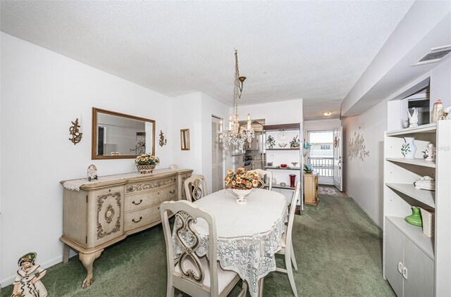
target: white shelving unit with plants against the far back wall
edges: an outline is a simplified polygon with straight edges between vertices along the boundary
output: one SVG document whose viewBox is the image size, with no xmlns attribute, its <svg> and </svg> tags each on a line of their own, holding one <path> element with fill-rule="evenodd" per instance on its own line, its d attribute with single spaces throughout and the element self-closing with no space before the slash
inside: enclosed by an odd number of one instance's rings
<svg viewBox="0 0 451 297">
<path fill-rule="evenodd" d="M 264 125 L 264 169 L 270 170 L 273 173 L 273 178 L 276 184 L 273 184 L 273 189 L 280 189 L 281 191 L 292 191 L 295 188 L 290 187 L 289 175 L 296 175 L 296 182 L 301 181 L 301 190 L 304 189 L 304 174 L 302 168 L 302 150 L 300 148 L 290 148 L 290 141 L 293 137 L 298 137 L 299 144 L 302 145 L 302 127 L 300 123 L 295 124 L 281 124 L 281 125 Z M 271 135 L 276 141 L 273 148 L 268 148 L 266 139 Z M 280 147 L 279 144 L 286 144 L 285 147 Z M 268 166 L 268 162 L 272 162 L 272 166 Z M 295 166 L 292 162 L 297 162 Z M 280 167 L 280 164 L 287 164 L 287 168 Z M 280 186 L 280 182 L 284 182 L 286 186 Z M 291 198 L 292 192 L 284 193 L 288 199 Z M 304 210 L 304 201 L 299 199 L 299 206 Z"/>
</svg>

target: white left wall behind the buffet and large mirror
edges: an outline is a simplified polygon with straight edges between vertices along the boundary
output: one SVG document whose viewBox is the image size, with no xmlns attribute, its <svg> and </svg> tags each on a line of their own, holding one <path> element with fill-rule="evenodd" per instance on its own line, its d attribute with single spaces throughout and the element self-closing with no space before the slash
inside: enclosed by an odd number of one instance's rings
<svg viewBox="0 0 451 297">
<path fill-rule="evenodd" d="M 11 284 L 20 255 L 38 254 L 44 267 L 61 261 L 62 195 L 59 182 L 133 172 L 133 160 L 91 160 L 92 107 L 156 120 L 171 128 L 171 98 L 65 56 L 1 33 L 0 282 Z M 83 115 L 83 139 L 69 140 L 70 121 Z M 179 132 L 180 133 L 180 132 Z M 180 134 L 178 134 L 180 137 Z M 179 142 L 179 141 L 178 141 Z M 171 147 L 158 145 L 161 168 Z"/>
</svg>

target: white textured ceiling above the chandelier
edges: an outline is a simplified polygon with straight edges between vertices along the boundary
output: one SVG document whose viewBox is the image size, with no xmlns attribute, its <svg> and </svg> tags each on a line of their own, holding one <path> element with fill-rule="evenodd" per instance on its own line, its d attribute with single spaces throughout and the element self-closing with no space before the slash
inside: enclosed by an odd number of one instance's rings
<svg viewBox="0 0 451 297">
<path fill-rule="evenodd" d="M 412 1 L 1 1 L 1 31 L 168 96 L 340 103 Z"/>
</svg>

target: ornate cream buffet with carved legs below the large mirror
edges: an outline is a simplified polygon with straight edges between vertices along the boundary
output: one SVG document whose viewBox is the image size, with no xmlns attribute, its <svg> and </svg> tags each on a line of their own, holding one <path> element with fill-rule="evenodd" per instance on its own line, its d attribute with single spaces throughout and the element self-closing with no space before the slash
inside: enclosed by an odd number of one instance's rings
<svg viewBox="0 0 451 297">
<path fill-rule="evenodd" d="M 83 288 L 92 284 L 92 265 L 104 248 L 161 222 L 163 201 L 185 198 L 183 182 L 192 170 L 154 170 L 63 181 L 63 263 L 69 247 L 79 252 L 87 272 Z"/>
</svg>

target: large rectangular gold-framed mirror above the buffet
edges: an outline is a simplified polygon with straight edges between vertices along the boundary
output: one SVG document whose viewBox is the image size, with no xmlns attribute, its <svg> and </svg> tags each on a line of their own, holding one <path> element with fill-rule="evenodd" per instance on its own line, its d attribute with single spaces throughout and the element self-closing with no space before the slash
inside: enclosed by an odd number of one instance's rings
<svg viewBox="0 0 451 297">
<path fill-rule="evenodd" d="M 155 121 L 92 108 L 92 160 L 155 155 Z"/>
</svg>

